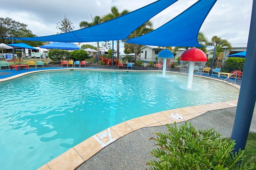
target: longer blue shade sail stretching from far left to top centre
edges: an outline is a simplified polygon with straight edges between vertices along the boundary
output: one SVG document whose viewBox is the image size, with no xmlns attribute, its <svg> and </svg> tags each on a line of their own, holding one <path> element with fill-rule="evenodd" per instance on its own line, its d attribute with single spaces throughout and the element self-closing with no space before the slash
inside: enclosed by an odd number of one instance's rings
<svg viewBox="0 0 256 170">
<path fill-rule="evenodd" d="M 92 27 L 71 31 L 63 34 L 27 37 L 8 38 L 31 41 L 49 42 L 98 42 L 107 40 L 127 39 L 127 37 L 140 25 L 172 5 L 177 0 L 158 0 L 128 14 L 117 17 L 113 20 L 94 25 Z"/>
</svg>

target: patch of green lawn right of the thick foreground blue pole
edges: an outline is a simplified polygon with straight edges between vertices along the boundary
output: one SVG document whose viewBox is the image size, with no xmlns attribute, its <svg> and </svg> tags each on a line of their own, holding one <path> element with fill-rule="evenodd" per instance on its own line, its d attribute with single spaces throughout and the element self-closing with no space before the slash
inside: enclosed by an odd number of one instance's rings
<svg viewBox="0 0 256 170">
<path fill-rule="evenodd" d="M 249 133 L 244 154 L 246 156 L 244 157 L 242 163 L 247 162 L 247 165 L 251 163 L 256 164 L 256 133 Z"/>
</svg>

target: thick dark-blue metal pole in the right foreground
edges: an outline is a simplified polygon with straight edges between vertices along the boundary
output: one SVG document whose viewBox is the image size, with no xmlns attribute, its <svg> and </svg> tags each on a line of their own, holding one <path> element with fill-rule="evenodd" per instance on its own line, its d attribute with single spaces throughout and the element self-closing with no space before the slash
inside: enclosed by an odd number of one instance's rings
<svg viewBox="0 0 256 170">
<path fill-rule="evenodd" d="M 236 116 L 231 134 L 231 140 L 236 141 L 234 152 L 244 150 L 250 130 L 252 114 L 256 101 L 256 1 L 252 2 L 251 23 L 247 51 L 243 69 Z"/>
</svg>

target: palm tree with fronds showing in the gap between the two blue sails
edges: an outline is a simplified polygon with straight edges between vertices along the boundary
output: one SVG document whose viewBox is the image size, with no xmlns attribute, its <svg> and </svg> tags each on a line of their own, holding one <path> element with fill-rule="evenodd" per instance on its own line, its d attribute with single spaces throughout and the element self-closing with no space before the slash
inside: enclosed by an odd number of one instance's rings
<svg viewBox="0 0 256 170">
<path fill-rule="evenodd" d="M 148 32 L 153 31 L 153 22 L 148 20 L 147 22 L 145 22 L 144 24 L 142 24 L 139 28 L 137 28 L 136 30 L 134 30 L 132 32 L 132 34 L 129 35 L 128 38 L 135 38 L 135 37 L 139 37 L 142 36 L 144 34 L 147 34 Z M 134 60 L 137 60 L 137 44 L 134 44 Z M 140 49 L 139 49 L 140 50 Z"/>
</svg>

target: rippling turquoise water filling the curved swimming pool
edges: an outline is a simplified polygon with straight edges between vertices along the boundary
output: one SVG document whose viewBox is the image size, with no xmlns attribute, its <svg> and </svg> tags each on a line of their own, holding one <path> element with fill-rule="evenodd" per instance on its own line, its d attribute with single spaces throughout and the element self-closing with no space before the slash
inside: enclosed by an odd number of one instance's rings
<svg viewBox="0 0 256 170">
<path fill-rule="evenodd" d="M 237 99 L 222 82 L 156 72 L 50 71 L 0 83 L 0 169 L 36 169 L 110 126 Z"/>
</svg>

